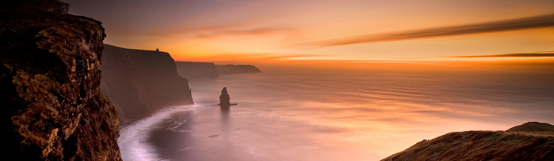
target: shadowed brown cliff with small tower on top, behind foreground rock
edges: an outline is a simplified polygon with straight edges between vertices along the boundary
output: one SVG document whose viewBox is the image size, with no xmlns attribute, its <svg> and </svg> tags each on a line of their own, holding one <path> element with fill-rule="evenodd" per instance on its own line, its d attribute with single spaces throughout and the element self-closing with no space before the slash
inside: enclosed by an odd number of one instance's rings
<svg viewBox="0 0 554 161">
<path fill-rule="evenodd" d="M 194 104 L 188 80 L 177 74 L 170 54 L 104 44 L 102 92 L 124 119 L 151 116 L 165 106 Z"/>
</svg>

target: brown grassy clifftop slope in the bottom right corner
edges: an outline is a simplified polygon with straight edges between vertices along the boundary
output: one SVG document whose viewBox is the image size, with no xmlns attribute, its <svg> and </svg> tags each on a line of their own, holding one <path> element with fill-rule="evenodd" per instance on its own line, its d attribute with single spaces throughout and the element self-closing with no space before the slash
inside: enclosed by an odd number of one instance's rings
<svg viewBox="0 0 554 161">
<path fill-rule="evenodd" d="M 540 125 L 542 129 L 554 129 L 553 125 L 537 123 L 528 122 L 519 127 Z M 554 160 L 554 131 L 528 129 L 520 131 L 514 128 L 510 128 L 511 131 L 451 132 L 428 141 L 418 142 L 381 161 Z"/>
</svg>

